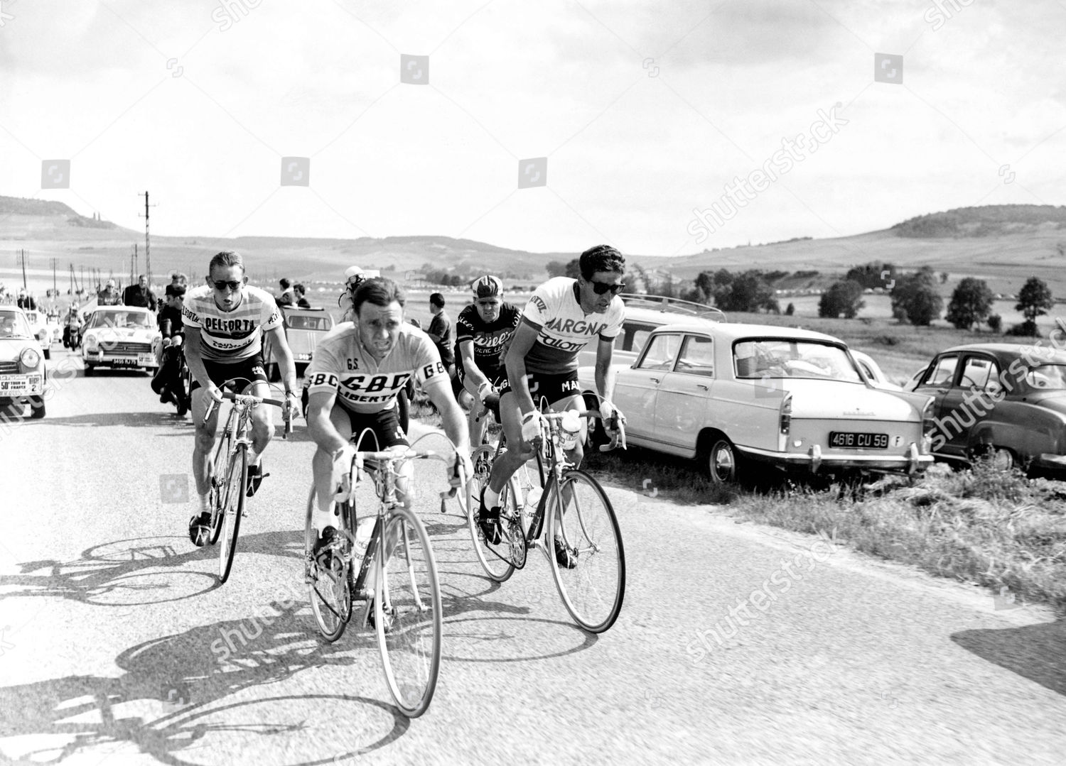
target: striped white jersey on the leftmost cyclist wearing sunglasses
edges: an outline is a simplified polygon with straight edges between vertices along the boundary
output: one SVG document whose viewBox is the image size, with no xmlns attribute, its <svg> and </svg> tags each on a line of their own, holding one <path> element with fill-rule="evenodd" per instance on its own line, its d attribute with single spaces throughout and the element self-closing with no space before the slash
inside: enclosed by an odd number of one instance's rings
<svg viewBox="0 0 1066 766">
<path fill-rule="evenodd" d="M 241 288 L 241 303 L 223 311 L 214 303 L 214 290 L 205 284 L 185 294 L 181 321 L 199 328 L 204 359 L 228 363 L 259 354 L 263 332 L 281 326 L 281 311 L 273 295 L 247 284 Z"/>
</svg>

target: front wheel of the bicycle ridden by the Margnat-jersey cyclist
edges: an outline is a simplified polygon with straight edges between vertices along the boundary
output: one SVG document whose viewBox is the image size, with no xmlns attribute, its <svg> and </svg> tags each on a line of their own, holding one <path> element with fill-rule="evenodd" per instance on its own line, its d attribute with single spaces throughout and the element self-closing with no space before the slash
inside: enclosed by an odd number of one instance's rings
<svg viewBox="0 0 1066 766">
<path fill-rule="evenodd" d="M 626 554 L 611 501 L 599 483 L 580 470 L 567 471 L 552 490 L 548 507 L 548 551 L 559 594 L 570 616 L 591 633 L 602 633 L 621 612 Z M 560 545 L 569 552 L 559 561 Z"/>
</svg>

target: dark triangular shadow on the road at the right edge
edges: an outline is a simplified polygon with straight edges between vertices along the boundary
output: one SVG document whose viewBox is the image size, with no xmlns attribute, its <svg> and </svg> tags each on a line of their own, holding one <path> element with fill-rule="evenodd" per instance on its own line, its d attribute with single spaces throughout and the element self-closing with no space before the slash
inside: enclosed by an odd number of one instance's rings
<svg viewBox="0 0 1066 766">
<path fill-rule="evenodd" d="M 962 631 L 951 640 L 982 659 L 1066 696 L 1066 619 L 1021 628 Z"/>
</svg>

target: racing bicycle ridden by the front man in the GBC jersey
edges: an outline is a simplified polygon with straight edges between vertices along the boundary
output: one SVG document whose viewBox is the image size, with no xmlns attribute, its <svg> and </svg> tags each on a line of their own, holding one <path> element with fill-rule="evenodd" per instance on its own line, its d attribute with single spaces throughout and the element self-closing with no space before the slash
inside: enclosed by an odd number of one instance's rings
<svg viewBox="0 0 1066 766">
<path fill-rule="evenodd" d="M 400 466 L 415 459 L 449 462 L 453 456 L 409 447 L 357 452 L 349 467 L 352 489 L 338 503 L 337 535 L 325 547 L 325 556 L 320 552 L 317 560 L 312 555 L 313 487 L 307 500 L 305 534 L 308 592 L 319 632 L 327 641 L 336 641 L 353 616 L 359 630 L 374 630 L 385 681 L 409 718 L 422 715 L 433 699 L 443 634 L 440 584 L 429 533 L 397 494 Z M 356 488 L 366 484 L 359 482 L 364 467 L 378 500 L 366 543 L 357 537 L 355 496 Z M 356 607 L 354 602 L 360 600 L 364 604 Z"/>
</svg>

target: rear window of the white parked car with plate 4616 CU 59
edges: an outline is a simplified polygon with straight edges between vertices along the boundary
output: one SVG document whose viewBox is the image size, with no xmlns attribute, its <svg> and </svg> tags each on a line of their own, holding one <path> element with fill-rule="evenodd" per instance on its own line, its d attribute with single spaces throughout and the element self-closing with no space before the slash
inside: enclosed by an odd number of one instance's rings
<svg viewBox="0 0 1066 766">
<path fill-rule="evenodd" d="M 739 378 L 828 378 L 861 382 L 858 371 L 841 346 L 795 338 L 737 341 L 733 365 Z"/>
</svg>

